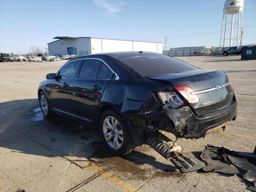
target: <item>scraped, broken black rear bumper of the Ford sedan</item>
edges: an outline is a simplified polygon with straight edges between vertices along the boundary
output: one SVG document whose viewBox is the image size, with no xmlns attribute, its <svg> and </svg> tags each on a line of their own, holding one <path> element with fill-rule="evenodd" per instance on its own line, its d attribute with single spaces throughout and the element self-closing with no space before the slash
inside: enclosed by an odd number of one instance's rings
<svg viewBox="0 0 256 192">
<path fill-rule="evenodd" d="M 201 138 L 205 136 L 207 131 L 234 120 L 237 116 L 237 102 L 232 102 L 223 110 L 204 114 L 200 117 L 194 115 L 187 106 L 179 109 L 164 106 L 164 112 L 174 123 L 174 127 L 168 127 L 164 131 L 171 132 L 177 138 Z"/>
</svg>

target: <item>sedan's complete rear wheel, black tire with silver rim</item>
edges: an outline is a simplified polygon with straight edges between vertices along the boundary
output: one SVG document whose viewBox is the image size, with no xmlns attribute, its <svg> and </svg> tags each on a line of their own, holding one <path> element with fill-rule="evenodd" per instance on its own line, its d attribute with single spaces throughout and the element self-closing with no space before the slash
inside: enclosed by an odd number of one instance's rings
<svg viewBox="0 0 256 192">
<path fill-rule="evenodd" d="M 124 120 L 113 110 L 107 110 L 102 114 L 100 132 L 106 146 L 117 156 L 127 154 L 135 148 L 134 141 Z"/>
</svg>

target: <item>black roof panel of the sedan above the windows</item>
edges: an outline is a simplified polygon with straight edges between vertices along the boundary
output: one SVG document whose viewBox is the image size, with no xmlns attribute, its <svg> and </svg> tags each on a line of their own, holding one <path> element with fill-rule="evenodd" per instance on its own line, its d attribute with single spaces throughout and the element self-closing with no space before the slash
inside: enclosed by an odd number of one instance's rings
<svg viewBox="0 0 256 192">
<path fill-rule="evenodd" d="M 90 56 L 103 56 L 103 55 L 111 55 L 118 59 L 129 58 L 129 57 L 137 57 L 137 56 L 147 56 L 147 55 L 162 55 L 156 52 L 148 52 L 148 51 L 122 51 L 122 52 L 108 52 L 108 53 L 98 53 L 98 54 L 90 54 L 85 56 L 80 56 L 76 58 L 87 58 Z"/>
</svg>

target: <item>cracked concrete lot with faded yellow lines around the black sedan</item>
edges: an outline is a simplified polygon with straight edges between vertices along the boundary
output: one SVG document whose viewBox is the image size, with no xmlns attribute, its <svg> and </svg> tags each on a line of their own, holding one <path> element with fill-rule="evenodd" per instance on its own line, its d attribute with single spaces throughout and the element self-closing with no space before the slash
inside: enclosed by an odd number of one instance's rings
<svg viewBox="0 0 256 192">
<path fill-rule="evenodd" d="M 180 57 L 204 69 L 225 70 L 238 100 L 238 118 L 225 132 L 179 139 L 184 152 L 212 144 L 252 152 L 256 145 L 256 60 L 240 56 Z M 66 61 L 0 63 L 0 192 L 232 192 L 247 191 L 239 176 L 180 173 L 147 145 L 114 157 L 95 130 L 54 116 L 43 118 L 37 88 Z M 166 134 L 171 139 L 173 135 Z"/>
</svg>

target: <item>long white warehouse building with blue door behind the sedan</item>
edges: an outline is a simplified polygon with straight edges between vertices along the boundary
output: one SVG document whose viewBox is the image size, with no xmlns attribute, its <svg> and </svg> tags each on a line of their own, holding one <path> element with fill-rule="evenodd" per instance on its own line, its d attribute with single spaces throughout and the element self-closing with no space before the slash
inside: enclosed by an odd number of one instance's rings
<svg viewBox="0 0 256 192">
<path fill-rule="evenodd" d="M 49 55 L 75 54 L 78 56 L 117 52 L 117 51 L 150 51 L 163 52 L 163 44 L 159 42 L 142 42 L 118 39 L 102 39 L 91 37 L 54 37 L 58 39 L 48 43 Z"/>
</svg>

